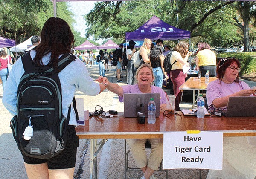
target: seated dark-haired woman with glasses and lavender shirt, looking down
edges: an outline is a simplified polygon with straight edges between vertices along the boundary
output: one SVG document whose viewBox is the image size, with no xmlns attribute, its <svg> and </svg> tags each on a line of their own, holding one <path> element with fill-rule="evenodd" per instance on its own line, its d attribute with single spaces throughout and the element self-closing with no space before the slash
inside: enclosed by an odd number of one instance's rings
<svg viewBox="0 0 256 179">
<path fill-rule="evenodd" d="M 227 107 L 230 96 L 253 96 L 248 84 L 239 80 L 240 63 L 224 58 L 217 66 L 217 80 L 207 86 L 207 103 L 215 108 Z M 210 170 L 207 179 L 247 178 L 256 175 L 256 137 L 224 137 L 223 170 Z"/>
</svg>

